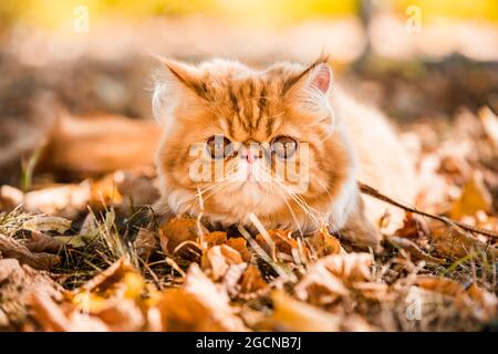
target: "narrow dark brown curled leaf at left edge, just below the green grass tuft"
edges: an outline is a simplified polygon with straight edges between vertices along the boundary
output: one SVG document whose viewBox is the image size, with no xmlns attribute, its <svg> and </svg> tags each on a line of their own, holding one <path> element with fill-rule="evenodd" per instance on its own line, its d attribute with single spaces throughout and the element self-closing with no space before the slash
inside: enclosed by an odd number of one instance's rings
<svg viewBox="0 0 498 354">
<path fill-rule="evenodd" d="M 33 253 L 18 240 L 0 235 L 0 253 L 4 258 L 14 258 L 22 264 L 28 264 L 34 269 L 48 270 L 59 264 L 61 258 L 50 253 Z"/>
</svg>

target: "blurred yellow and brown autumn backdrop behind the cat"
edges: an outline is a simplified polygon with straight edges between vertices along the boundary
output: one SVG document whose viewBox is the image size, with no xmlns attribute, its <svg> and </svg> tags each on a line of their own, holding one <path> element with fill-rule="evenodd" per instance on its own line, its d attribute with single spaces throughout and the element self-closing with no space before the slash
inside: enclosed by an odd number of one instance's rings
<svg viewBox="0 0 498 354">
<path fill-rule="evenodd" d="M 322 52 L 402 131 L 429 122 L 427 139 L 463 111 L 498 112 L 497 0 L 2 0 L 0 184 L 19 186 L 61 112 L 152 119 L 152 54 L 263 66 Z"/>
</svg>

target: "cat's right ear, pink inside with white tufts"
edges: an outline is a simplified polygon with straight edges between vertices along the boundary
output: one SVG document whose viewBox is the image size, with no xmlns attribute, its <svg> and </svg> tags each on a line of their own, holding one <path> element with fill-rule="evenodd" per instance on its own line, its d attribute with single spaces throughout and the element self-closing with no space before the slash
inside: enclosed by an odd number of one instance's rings
<svg viewBox="0 0 498 354">
<path fill-rule="evenodd" d="M 332 69 L 326 60 L 320 60 L 300 74 L 290 77 L 283 87 L 286 97 L 307 111 L 330 111 Z"/>
</svg>

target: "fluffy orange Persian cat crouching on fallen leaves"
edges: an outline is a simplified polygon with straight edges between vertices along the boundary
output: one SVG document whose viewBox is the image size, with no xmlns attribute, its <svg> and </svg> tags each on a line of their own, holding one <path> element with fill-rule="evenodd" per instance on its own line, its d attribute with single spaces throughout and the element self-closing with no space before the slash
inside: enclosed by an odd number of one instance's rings
<svg viewBox="0 0 498 354">
<path fill-rule="evenodd" d="M 374 222 L 390 207 L 362 198 L 357 180 L 414 201 L 414 167 L 394 131 L 335 87 L 326 58 L 264 70 L 162 62 L 153 94 L 164 126 L 160 214 L 255 230 L 253 215 L 266 229 L 305 236 L 326 227 L 377 248 Z"/>
</svg>

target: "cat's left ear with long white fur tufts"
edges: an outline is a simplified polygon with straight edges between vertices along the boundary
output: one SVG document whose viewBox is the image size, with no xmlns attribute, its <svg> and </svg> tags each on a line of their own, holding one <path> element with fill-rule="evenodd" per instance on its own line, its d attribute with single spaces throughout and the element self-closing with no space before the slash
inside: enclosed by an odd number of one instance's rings
<svg viewBox="0 0 498 354">
<path fill-rule="evenodd" d="M 165 123 L 178 106 L 198 105 L 206 86 L 196 66 L 170 59 L 157 59 L 163 69 L 155 74 L 153 114 L 159 123 Z"/>
</svg>

